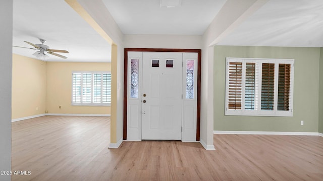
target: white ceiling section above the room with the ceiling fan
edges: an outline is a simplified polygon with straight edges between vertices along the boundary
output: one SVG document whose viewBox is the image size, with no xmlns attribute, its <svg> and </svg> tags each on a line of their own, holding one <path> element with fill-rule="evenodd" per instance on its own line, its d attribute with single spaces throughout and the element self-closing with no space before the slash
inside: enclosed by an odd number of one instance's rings
<svg viewBox="0 0 323 181">
<path fill-rule="evenodd" d="M 14 0 L 13 45 L 30 47 L 45 39 L 51 49 L 68 50 L 46 61 L 107 62 L 111 45 L 90 27 L 64 0 Z M 13 47 L 13 53 L 36 58 L 36 50 Z"/>
</svg>

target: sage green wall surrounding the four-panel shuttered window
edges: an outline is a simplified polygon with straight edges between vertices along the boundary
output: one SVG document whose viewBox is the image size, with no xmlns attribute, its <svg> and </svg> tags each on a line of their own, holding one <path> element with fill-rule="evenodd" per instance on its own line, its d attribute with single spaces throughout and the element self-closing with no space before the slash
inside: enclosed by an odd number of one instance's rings
<svg viewBox="0 0 323 181">
<path fill-rule="evenodd" d="M 214 46 L 213 129 L 318 132 L 319 61 L 323 62 L 321 51 L 321 48 L 301 47 Z M 293 117 L 225 116 L 226 57 L 295 59 Z M 320 87 L 322 85 L 320 83 Z M 300 125 L 301 120 L 304 125 Z"/>
</svg>

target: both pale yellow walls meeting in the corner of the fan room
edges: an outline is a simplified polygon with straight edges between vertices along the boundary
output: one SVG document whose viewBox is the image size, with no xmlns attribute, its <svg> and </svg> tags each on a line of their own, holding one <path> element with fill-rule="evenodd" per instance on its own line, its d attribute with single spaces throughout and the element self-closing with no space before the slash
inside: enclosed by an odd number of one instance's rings
<svg viewBox="0 0 323 181">
<path fill-rule="evenodd" d="M 110 106 L 71 106 L 72 71 L 110 70 L 111 63 L 44 62 L 13 54 L 12 119 L 41 115 L 46 111 L 52 114 L 111 114 Z"/>
</svg>

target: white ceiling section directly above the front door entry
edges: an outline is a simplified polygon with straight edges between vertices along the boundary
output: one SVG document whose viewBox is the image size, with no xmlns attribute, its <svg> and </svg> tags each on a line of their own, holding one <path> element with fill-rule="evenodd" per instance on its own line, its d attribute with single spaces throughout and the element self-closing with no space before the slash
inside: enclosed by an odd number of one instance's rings
<svg viewBox="0 0 323 181">
<path fill-rule="evenodd" d="M 159 0 L 102 0 L 124 34 L 202 35 L 225 0 L 182 0 L 160 8 Z"/>
</svg>

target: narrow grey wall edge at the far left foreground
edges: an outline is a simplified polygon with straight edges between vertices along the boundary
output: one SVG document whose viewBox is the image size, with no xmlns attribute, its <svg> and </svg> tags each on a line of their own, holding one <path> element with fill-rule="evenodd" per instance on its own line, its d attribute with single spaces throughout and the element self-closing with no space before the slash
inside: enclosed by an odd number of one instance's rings
<svg viewBox="0 0 323 181">
<path fill-rule="evenodd" d="M 11 84 L 13 1 L 0 2 L 0 170 L 11 170 Z M 0 175 L 0 180 L 11 180 Z"/>
</svg>

